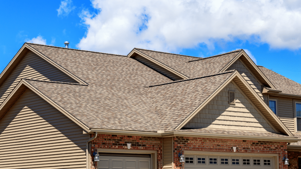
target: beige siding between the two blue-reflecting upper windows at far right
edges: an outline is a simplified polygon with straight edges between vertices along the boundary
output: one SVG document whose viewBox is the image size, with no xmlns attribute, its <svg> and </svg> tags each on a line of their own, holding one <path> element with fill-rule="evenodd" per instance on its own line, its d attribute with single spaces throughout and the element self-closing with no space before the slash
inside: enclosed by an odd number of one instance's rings
<svg viewBox="0 0 301 169">
<path fill-rule="evenodd" d="M 282 123 L 290 130 L 290 132 L 294 132 L 293 99 L 271 96 L 269 98 L 277 100 L 277 116 L 280 118 Z"/>
</svg>

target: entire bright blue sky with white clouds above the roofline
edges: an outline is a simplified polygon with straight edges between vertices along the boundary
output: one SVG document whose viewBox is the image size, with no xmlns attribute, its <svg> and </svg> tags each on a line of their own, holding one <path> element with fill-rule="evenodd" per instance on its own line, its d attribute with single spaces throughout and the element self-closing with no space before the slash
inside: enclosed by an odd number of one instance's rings
<svg viewBox="0 0 301 169">
<path fill-rule="evenodd" d="M 244 49 L 301 84 L 301 2 L 0 0 L 0 72 L 25 42 L 127 55 L 144 48 L 209 57 Z M 172 2 L 172 3 L 171 3 Z"/>
</svg>

